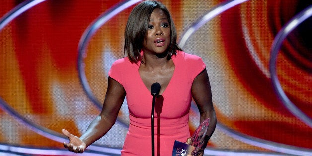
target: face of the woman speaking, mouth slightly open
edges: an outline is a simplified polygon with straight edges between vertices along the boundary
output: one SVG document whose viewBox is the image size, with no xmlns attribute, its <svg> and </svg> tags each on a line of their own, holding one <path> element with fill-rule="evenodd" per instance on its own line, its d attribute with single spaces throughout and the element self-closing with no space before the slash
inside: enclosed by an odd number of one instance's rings
<svg viewBox="0 0 312 156">
<path fill-rule="evenodd" d="M 147 38 L 143 43 L 143 50 L 145 53 L 161 54 L 165 52 L 170 45 L 170 25 L 167 15 L 159 8 L 153 10 Z"/>
</svg>

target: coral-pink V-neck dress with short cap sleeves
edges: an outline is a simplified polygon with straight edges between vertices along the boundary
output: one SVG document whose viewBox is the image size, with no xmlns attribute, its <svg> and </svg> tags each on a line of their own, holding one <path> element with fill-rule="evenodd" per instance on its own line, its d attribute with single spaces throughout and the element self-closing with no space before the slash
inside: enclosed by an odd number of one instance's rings
<svg viewBox="0 0 312 156">
<path fill-rule="evenodd" d="M 183 51 L 177 51 L 172 60 L 175 69 L 162 94 L 161 113 L 154 114 L 155 156 L 171 156 L 174 140 L 185 142 L 190 137 L 188 120 L 192 101 L 191 87 L 194 78 L 206 67 L 200 57 Z M 125 57 L 115 61 L 108 73 L 126 90 L 130 125 L 121 151 L 122 156 L 151 156 L 153 97 L 140 77 L 140 64 L 141 62 L 132 64 Z M 155 109 L 159 108 L 156 107 Z"/>
</svg>

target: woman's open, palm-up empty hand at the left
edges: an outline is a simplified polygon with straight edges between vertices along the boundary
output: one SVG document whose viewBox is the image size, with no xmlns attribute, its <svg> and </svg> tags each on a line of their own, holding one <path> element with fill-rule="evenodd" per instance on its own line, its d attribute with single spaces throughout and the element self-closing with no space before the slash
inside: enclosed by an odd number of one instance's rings
<svg viewBox="0 0 312 156">
<path fill-rule="evenodd" d="M 72 135 L 70 132 L 68 132 L 65 129 L 62 129 L 62 133 L 68 137 L 69 143 L 63 143 L 64 147 L 67 148 L 69 151 L 75 152 L 75 153 L 83 153 L 86 144 L 77 136 Z"/>
</svg>

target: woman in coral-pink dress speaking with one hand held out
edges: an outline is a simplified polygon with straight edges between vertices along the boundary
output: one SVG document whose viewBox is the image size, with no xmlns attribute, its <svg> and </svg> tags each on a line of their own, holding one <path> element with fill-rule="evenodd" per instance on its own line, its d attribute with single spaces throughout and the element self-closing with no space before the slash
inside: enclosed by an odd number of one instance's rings
<svg viewBox="0 0 312 156">
<path fill-rule="evenodd" d="M 155 155 L 171 156 L 175 140 L 186 142 L 190 138 L 188 120 L 192 98 L 200 112 L 200 123 L 210 118 L 205 144 L 201 147 L 204 149 L 217 122 L 206 66 L 200 57 L 183 52 L 176 39 L 171 15 L 162 3 L 147 0 L 137 5 L 125 30 L 127 56 L 117 60 L 108 73 L 100 115 L 80 138 L 63 129 L 70 140 L 64 147 L 82 153 L 105 135 L 114 125 L 126 97 L 130 125 L 122 156 L 150 156 L 151 85 L 158 82 L 161 89 L 156 103 L 160 101 L 161 106 L 155 113 Z"/>
</svg>

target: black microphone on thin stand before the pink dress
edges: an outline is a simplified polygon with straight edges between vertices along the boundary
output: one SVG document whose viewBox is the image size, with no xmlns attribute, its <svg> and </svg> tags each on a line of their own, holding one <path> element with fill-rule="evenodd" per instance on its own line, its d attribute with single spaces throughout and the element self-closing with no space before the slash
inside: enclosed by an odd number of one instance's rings
<svg viewBox="0 0 312 156">
<path fill-rule="evenodd" d="M 152 156 L 154 156 L 154 108 L 155 108 L 155 97 L 159 95 L 160 92 L 160 84 L 155 82 L 151 85 L 151 95 L 152 99 L 152 112 L 151 112 L 151 141 L 152 141 Z"/>
</svg>

